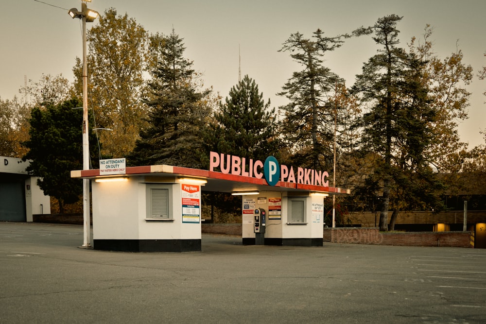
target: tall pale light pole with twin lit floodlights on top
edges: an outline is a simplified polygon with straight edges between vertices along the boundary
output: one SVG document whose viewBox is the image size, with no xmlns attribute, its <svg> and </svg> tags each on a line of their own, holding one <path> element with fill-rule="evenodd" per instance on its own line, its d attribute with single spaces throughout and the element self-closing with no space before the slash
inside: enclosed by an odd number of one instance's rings
<svg viewBox="0 0 486 324">
<path fill-rule="evenodd" d="M 71 18 L 79 18 L 83 22 L 83 170 L 89 170 L 86 23 L 93 22 L 99 15 L 98 12 L 88 9 L 86 2 L 91 2 L 91 0 L 81 1 L 81 11 L 76 8 L 68 11 Z M 83 247 L 91 247 L 89 214 L 89 179 L 83 179 Z"/>
</svg>

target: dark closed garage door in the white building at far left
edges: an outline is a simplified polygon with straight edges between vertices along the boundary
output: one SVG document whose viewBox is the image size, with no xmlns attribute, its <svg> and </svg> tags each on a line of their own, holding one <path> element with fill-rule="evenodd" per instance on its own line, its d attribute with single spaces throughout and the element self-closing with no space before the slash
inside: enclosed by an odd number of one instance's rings
<svg viewBox="0 0 486 324">
<path fill-rule="evenodd" d="M 0 221 L 27 221 L 24 181 L 0 182 Z"/>
</svg>

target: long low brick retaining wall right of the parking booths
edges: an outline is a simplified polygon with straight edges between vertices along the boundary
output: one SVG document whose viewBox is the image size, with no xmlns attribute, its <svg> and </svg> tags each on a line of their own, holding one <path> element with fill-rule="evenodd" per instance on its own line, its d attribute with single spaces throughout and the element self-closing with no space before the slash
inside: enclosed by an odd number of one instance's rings
<svg viewBox="0 0 486 324">
<path fill-rule="evenodd" d="M 388 232 L 378 228 L 324 228 L 324 241 L 377 245 L 474 247 L 474 232 Z"/>
</svg>

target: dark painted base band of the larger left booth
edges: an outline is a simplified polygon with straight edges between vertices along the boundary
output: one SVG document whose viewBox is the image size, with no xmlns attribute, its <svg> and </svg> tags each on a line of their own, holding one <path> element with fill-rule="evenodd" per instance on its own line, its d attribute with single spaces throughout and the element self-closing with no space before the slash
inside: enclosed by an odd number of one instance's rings
<svg viewBox="0 0 486 324">
<path fill-rule="evenodd" d="M 95 250 L 122 252 L 199 252 L 201 239 L 95 239 Z"/>
</svg>

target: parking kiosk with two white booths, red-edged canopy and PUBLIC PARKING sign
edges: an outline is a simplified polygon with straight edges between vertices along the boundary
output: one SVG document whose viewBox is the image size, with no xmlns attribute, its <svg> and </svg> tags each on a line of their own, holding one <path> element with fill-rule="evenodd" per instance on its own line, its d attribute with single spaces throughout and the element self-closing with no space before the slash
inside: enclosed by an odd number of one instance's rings
<svg viewBox="0 0 486 324">
<path fill-rule="evenodd" d="M 293 174 L 275 158 L 265 163 L 219 153 L 210 158 L 209 170 L 154 165 L 126 167 L 122 174 L 71 171 L 73 178 L 91 179 L 93 248 L 201 251 L 202 191 L 242 196 L 245 245 L 322 246 L 324 196 L 349 194 L 329 187 L 323 181 L 327 172 L 299 168 Z"/>
</svg>

